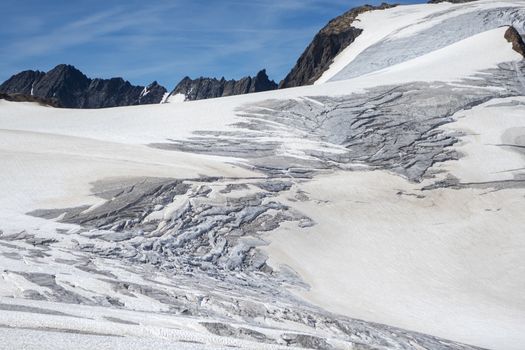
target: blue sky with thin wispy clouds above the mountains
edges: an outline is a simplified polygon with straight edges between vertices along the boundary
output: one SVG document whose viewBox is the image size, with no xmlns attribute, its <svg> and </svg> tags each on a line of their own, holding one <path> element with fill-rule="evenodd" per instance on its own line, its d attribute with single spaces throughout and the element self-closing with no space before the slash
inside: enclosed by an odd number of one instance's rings
<svg viewBox="0 0 525 350">
<path fill-rule="evenodd" d="M 381 1 L 2 0 L 0 81 L 59 63 L 168 90 L 186 75 L 237 79 L 262 68 L 278 81 L 328 20 L 364 2 Z"/>
</svg>

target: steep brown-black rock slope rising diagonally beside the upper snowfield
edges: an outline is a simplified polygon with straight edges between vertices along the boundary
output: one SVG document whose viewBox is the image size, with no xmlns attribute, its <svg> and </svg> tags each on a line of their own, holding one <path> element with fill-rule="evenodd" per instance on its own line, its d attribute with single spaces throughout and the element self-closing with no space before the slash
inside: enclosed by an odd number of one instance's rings
<svg viewBox="0 0 525 350">
<path fill-rule="evenodd" d="M 289 88 L 313 84 L 328 69 L 335 56 L 361 34 L 362 29 L 352 26 L 356 17 L 367 11 L 383 10 L 395 5 L 383 3 L 379 6 L 364 5 L 351 9 L 331 20 L 317 33 L 303 52 L 295 67 L 279 84 L 279 88 Z"/>
</svg>

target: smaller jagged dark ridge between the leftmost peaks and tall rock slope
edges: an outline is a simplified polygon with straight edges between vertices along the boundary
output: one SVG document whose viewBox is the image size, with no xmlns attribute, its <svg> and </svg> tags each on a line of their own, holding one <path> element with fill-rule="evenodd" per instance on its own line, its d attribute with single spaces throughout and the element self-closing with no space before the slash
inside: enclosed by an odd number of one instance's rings
<svg viewBox="0 0 525 350">
<path fill-rule="evenodd" d="M 277 84 L 268 78 L 266 70 L 263 69 L 255 77 L 244 77 L 240 80 L 185 77 L 170 95 L 182 94 L 185 100 L 194 101 L 275 89 L 277 89 Z"/>
</svg>

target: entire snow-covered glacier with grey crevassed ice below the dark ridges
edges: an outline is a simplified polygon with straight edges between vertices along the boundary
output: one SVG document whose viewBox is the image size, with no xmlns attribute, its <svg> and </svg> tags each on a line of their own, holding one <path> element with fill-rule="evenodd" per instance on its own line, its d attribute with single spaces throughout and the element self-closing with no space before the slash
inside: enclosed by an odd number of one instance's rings
<svg viewBox="0 0 525 350">
<path fill-rule="evenodd" d="M 362 14 L 314 86 L 0 101 L 0 348 L 521 349 L 522 11 Z"/>
</svg>

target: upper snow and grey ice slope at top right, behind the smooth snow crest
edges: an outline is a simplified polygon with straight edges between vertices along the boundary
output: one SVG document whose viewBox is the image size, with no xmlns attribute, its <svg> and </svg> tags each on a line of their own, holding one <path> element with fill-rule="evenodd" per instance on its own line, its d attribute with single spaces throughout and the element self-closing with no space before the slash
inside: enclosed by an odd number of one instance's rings
<svg viewBox="0 0 525 350">
<path fill-rule="evenodd" d="M 399 6 L 363 13 L 358 20 L 363 33 L 316 84 L 384 69 L 501 26 L 512 25 L 525 34 L 520 1 Z"/>
</svg>

